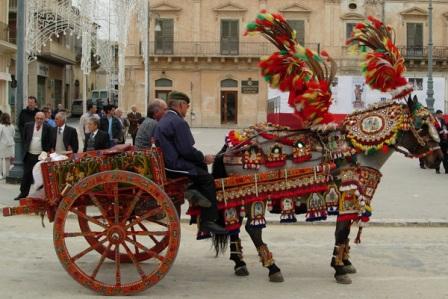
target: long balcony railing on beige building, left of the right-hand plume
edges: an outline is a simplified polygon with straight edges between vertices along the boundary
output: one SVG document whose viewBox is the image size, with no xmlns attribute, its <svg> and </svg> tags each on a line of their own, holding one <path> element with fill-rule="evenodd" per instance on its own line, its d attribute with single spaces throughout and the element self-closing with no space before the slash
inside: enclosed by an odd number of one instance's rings
<svg viewBox="0 0 448 299">
<path fill-rule="evenodd" d="M 319 49 L 318 43 L 306 44 L 315 51 Z M 236 56 L 260 57 L 270 55 L 276 48 L 268 42 L 229 42 L 229 41 L 150 41 L 151 56 Z"/>
</svg>

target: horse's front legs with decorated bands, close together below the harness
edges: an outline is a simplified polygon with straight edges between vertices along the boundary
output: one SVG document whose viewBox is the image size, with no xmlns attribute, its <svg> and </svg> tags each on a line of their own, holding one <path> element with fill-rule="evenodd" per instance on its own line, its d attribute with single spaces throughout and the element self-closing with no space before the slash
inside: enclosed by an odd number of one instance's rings
<svg viewBox="0 0 448 299">
<path fill-rule="evenodd" d="M 352 280 L 348 277 L 346 272 L 346 265 L 344 264 L 344 257 L 346 257 L 346 262 L 350 263 L 348 260 L 348 250 L 345 247 L 348 246 L 348 235 L 350 234 L 351 221 L 337 221 L 335 230 L 336 244 L 333 249 L 333 257 L 331 258 L 331 266 L 334 268 L 336 273 L 334 278 L 336 282 L 342 284 L 350 284 Z M 350 263 L 351 265 L 351 263 Z"/>
</svg>

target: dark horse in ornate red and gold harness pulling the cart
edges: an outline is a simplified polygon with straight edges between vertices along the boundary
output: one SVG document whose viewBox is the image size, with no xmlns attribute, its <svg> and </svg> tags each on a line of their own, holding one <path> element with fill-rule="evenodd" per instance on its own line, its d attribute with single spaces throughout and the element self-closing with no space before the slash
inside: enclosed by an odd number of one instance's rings
<svg viewBox="0 0 448 299">
<path fill-rule="evenodd" d="M 348 274 L 356 273 L 349 257 L 350 228 L 354 222 L 368 221 L 381 167 L 393 152 L 423 159 L 428 168 L 435 168 L 442 159 L 433 116 L 416 97 L 406 102 L 379 103 L 348 115 L 339 126 L 290 130 L 264 125 L 229 133 L 212 173 L 222 223 L 232 232 L 228 237 L 213 236 L 216 254 L 230 240 L 235 275 L 249 275 L 239 238 L 239 227 L 247 218 L 245 230 L 268 269 L 269 281 L 282 282 L 281 269 L 262 237 L 266 209 L 280 212 L 281 222 L 295 222 L 295 214 L 306 213 L 307 221 L 333 214 L 337 222 L 330 265 L 337 283 L 350 284 Z M 298 179 L 294 182 L 295 173 Z M 225 181 L 232 178 L 237 178 L 233 189 Z M 244 180 L 246 185 L 241 183 Z M 263 187 L 263 180 L 277 185 Z M 251 188 L 245 190 L 249 181 Z M 294 184 L 294 189 L 287 189 Z"/>
</svg>

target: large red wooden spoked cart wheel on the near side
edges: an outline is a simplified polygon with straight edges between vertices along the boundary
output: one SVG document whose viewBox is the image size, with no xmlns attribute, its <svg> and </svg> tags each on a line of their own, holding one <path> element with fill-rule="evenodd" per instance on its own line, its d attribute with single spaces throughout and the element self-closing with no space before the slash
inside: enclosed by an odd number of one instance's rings
<svg viewBox="0 0 448 299">
<path fill-rule="evenodd" d="M 155 204 L 138 211 L 142 198 Z M 82 231 L 76 218 L 85 219 L 89 229 Z M 153 251 L 150 236 L 166 238 L 166 248 Z M 95 242 L 86 243 L 86 237 Z M 83 179 L 62 199 L 53 240 L 62 265 L 80 284 L 104 295 L 128 295 L 153 286 L 169 271 L 179 248 L 179 217 L 151 180 L 127 171 L 105 171 Z M 110 252 L 113 261 L 106 259 Z M 121 261 L 124 255 L 131 263 Z M 145 261 L 138 260 L 139 255 Z"/>
</svg>

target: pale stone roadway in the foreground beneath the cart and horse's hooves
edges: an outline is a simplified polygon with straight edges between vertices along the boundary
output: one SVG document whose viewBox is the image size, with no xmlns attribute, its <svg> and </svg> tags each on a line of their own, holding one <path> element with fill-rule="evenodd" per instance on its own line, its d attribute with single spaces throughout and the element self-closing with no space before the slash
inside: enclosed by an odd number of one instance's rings
<svg viewBox="0 0 448 299">
<path fill-rule="evenodd" d="M 1 298 L 98 298 L 63 269 L 53 249 L 52 226 L 36 216 L 0 218 Z M 353 284 L 334 282 L 330 268 L 333 229 L 274 225 L 265 242 L 282 269 L 285 282 L 268 282 L 254 246 L 242 234 L 250 276 L 233 274 L 233 263 L 214 257 L 208 241 L 196 241 L 195 229 L 182 224 L 179 253 L 168 275 L 136 296 L 174 298 L 448 298 L 446 228 L 372 227 L 363 243 L 352 246 L 358 273 Z M 111 264 L 110 261 L 106 263 Z M 122 267 L 131 266 L 123 264 Z M 125 298 L 125 297 L 123 297 Z M 126 297 L 129 298 L 129 297 Z"/>
</svg>

